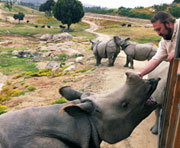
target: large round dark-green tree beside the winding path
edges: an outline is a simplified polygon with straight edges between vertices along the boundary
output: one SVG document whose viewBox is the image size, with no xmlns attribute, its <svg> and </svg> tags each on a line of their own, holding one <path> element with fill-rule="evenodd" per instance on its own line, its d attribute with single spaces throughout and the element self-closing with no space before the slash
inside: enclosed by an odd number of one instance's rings
<svg viewBox="0 0 180 148">
<path fill-rule="evenodd" d="M 84 9 L 79 0 L 58 0 L 53 7 L 53 14 L 57 20 L 67 24 L 69 30 L 71 24 L 81 21 Z"/>
</svg>

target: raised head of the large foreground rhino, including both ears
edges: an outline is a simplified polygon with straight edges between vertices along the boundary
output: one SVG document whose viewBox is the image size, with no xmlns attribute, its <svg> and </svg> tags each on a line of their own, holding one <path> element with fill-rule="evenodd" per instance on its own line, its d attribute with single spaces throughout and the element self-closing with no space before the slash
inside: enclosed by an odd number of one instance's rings
<svg viewBox="0 0 180 148">
<path fill-rule="evenodd" d="M 160 79 L 142 79 L 133 72 L 126 72 L 126 76 L 125 84 L 106 94 L 61 88 L 60 94 L 67 99 L 80 99 L 79 103 L 64 107 L 64 111 L 71 116 L 86 113 L 100 140 L 113 144 L 127 138 L 157 107 L 157 103 L 148 103 L 148 99 Z"/>
</svg>

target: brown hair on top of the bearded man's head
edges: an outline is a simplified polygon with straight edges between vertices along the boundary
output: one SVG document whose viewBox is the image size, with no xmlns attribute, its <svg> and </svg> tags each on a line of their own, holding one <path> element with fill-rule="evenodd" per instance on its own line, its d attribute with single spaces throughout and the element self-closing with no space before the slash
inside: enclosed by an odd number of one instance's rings
<svg viewBox="0 0 180 148">
<path fill-rule="evenodd" d="M 166 22 L 175 23 L 176 18 L 165 11 L 159 11 L 151 18 L 151 23 L 155 23 L 157 20 L 160 20 L 163 24 Z"/>
</svg>

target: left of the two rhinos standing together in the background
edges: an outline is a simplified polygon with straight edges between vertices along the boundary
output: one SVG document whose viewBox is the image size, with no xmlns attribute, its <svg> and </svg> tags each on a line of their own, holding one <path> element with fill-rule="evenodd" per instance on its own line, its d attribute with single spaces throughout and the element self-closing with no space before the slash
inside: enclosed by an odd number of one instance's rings
<svg viewBox="0 0 180 148">
<path fill-rule="evenodd" d="M 114 38 L 109 41 L 96 41 L 92 43 L 91 49 L 96 58 L 96 66 L 101 64 L 102 58 L 108 58 L 108 66 L 114 66 L 117 55 L 120 53 L 120 47 L 115 42 Z"/>
</svg>

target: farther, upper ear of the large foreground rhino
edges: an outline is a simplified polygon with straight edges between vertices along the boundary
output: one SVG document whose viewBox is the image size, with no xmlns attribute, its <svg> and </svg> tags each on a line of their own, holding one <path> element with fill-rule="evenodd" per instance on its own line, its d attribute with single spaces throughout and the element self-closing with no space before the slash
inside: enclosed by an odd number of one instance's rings
<svg viewBox="0 0 180 148">
<path fill-rule="evenodd" d="M 59 89 L 59 93 L 69 101 L 80 99 L 83 94 L 80 91 L 72 89 L 70 86 L 64 86 Z"/>
</svg>

